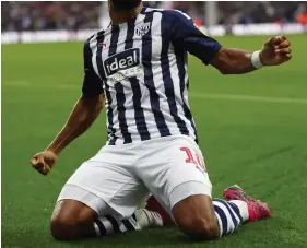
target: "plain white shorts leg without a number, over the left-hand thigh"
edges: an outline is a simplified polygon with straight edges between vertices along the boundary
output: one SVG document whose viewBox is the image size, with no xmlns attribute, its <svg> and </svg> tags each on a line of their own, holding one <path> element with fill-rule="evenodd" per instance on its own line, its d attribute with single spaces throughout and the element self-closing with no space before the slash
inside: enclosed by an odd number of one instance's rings
<svg viewBox="0 0 307 248">
<path fill-rule="evenodd" d="M 98 215 L 128 217 L 146 196 L 143 182 L 127 166 L 118 165 L 114 157 L 105 153 L 83 163 L 76 169 L 64 185 L 58 202 L 75 200 L 90 206 Z"/>
</svg>

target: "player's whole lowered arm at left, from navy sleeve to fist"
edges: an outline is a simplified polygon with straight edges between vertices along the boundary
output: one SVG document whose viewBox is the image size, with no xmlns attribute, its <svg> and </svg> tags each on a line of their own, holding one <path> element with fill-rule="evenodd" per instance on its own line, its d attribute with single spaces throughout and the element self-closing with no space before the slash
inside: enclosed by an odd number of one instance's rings
<svg viewBox="0 0 307 248">
<path fill-rule="evenodd" d="M 58 135 L 45 151 L 35 154 L 31 160 L 32 166 L 43 175 L 47 175 L 50 172 L 60 152 L 92 126 L 103 108 L 105 98 L 103 82 L 93 69 L 88 40 L 84 45 L 84 81 L 82 92 L 83 95 L 78 99 Z"/>
</svg>

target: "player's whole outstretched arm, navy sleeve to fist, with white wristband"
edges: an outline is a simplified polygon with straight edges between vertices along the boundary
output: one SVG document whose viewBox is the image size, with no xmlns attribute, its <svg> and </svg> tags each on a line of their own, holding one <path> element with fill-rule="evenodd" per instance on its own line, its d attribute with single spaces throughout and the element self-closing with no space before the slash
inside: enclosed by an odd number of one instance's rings
<svg viewBox="0 0 307 248">
<path fill-rule="evenodd" d="M 192 20 L 180 12 L 172 12 L 170 39 L 177 49 L 187 50 L 204 64 L 212 64 L 223 74 L 243 74 L 262 66 L 278 66 L 292 58 L 291 43 L 285 36 L 268 39 L 259 51 L 224 48 L 204 35 Z"/>
</svg>

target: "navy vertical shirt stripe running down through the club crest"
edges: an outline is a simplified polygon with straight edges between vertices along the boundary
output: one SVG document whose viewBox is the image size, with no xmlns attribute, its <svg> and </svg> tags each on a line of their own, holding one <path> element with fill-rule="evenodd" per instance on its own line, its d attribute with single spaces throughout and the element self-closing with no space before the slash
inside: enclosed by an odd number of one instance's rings
<svg viewBox="0 0 307 248">
<path fill-rule="evenodd" d="M 144 23 L 152 23 L 153 13 L 146 14 Z M 157 129 L 161 137 L 170 135 L 169 129 L 166 126 L 165 118 L 160 109 L 160 97 L 155 90 L 153 71 L 152 71 L 152 29 L 150 28 L 145 35 L 142 37 L 142 63 L 144 67 L 144 79 L 145 85 L 150 92 L 150 101 L 152 106 L 152 111 L 155 118 Z"/>
</svg>

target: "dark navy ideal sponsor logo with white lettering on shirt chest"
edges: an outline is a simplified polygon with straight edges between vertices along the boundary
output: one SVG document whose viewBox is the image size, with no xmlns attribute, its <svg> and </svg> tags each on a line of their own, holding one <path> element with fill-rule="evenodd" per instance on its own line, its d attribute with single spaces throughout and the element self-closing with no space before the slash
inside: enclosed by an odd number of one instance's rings
<svg viewBox="0 0 307 248">
<path fill-rule="evenodd" d="M 107 76 L 110 76 L 119 71 L 137 67 L 139 63 L 140 49 L 132 48 L 109 57 L 105 60 L 104 66 Z"/>
</svg>

